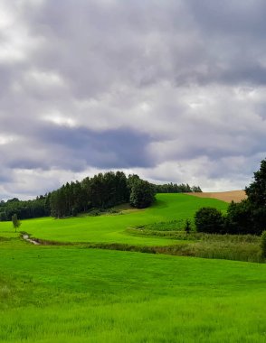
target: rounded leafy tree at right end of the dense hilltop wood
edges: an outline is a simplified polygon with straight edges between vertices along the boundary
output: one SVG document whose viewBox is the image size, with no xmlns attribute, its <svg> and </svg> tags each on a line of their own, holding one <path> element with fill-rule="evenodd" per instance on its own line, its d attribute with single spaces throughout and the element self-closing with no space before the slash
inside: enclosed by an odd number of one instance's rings
<svg viewBox="0 0 266 343">
<path fill-rule="evenodd" d="M 147 181 L 135 181 L 131 187 L 129 202 L 137 209 L 145 209 L 155 201 L 154 187 Z"/>
</svg>

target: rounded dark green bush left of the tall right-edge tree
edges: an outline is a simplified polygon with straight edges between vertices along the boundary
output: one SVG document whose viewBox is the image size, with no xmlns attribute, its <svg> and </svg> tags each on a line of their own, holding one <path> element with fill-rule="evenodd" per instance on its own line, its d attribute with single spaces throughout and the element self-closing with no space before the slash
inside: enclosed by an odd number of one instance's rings
<svg viewBox="0 0 266 343">
<path fill-rule="evenodd" d="M 195 212 L 195 228 L 198 232 L 209 234 L 223 234 L 224 220 L 220 210 L 202 208 Z"/>
</svg>

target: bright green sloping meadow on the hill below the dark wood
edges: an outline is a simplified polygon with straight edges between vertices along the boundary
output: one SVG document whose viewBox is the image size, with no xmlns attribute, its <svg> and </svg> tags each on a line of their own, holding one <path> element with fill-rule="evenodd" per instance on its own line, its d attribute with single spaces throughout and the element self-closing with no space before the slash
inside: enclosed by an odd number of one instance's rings
<svg viewBox="0 0 266 343">
<path fill-rule="evenodd" d="M 61 242 L 123 243 L 142 246 L 166 246 L 176 243 L 162 237 L 128 235 L 126 229 L 170 219 L 193 218 L 201 207 L 225 210 L 228 204 L 216 199 L 200 199 L 185 194 L 157 194 L 157 202 L 149 209 L 126 210 L 122 215 L 24 220 L 21 230 L 34 237 Z M 11 230 L 10 223 L 1 223 L 0 236 Z"/>
</svg>

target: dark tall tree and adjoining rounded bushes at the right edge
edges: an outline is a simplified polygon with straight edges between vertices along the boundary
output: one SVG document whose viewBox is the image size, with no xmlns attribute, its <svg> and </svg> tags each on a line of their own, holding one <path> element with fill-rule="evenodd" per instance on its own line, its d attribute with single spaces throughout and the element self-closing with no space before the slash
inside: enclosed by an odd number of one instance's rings
<svg viewBox="0 0 266 343">
<path fill-rule="evenodd" d="M 261 235 L 266 228 L 266 160 L 254 172 L 254 181 L 245 189 L 248 199 L 232 203 L 223 216 L 213 208 L 199 209 L 195 213 L 198 231 L 232 235 Z"/>
</svg>

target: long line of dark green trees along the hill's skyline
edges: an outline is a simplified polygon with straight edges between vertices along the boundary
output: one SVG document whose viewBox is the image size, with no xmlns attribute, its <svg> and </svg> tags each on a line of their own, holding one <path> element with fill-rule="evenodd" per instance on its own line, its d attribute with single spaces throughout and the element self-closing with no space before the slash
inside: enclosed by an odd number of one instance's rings
<svg viewBox="0 0 266 343">
<path fill-rule="evenodd" d="M 11 220 L 14 213 L 20 219 L 52 216 L 63 218 L 77 216 L 92 209 L 109 209 L 130 203 L 138 209 L 150 206 L 156 193 L 180 193 L 201 191 L 198 186 L 167 183 L 156 185 L 132 174 L 105 172 L 87 177 L 82 181 L 67 182 L 58 190 L 53 190 L 33 200 L 9 199 L 0 203 L 0 220 Z"/>
</svg>

